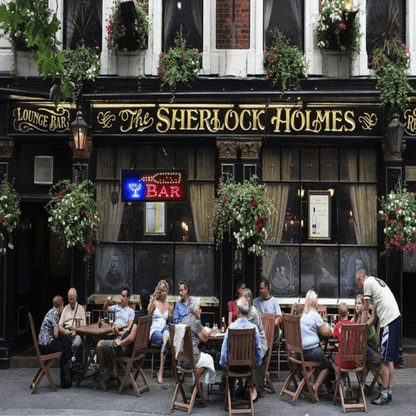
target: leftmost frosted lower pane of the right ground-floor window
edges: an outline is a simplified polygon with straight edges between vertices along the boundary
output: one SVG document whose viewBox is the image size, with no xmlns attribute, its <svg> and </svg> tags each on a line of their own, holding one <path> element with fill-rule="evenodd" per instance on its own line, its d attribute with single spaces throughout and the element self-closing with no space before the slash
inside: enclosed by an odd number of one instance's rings
<svg viewBox="0 0 416 416">
<path fill-rule="evenodd" d="M 263 275 L 270 276 L 272 296 L 299 296 L 299 249 L 268 247 Z"/>
</svg>

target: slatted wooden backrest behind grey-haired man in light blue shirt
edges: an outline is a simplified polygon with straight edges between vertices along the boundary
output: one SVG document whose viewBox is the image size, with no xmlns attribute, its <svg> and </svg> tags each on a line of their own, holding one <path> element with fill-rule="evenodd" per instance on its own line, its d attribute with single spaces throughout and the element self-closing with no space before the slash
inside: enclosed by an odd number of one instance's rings
<svg viewBox="0 0 416 416">
<path fill-rule="evenodd" d="M 254 368 L 255 328 L 228 329 L 227 366 Z"/>
</svg>

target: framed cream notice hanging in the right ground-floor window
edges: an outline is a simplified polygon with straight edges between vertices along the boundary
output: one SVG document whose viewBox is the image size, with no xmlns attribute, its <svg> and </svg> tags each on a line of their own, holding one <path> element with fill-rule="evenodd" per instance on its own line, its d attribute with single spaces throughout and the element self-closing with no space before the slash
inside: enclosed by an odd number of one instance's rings
<svg viewBox="0 0 416 416">
<path fill-rule="evenodd" d="M 331 194 L 329 191 L 308 192 L 308 238 L 331 239 Z"/>
</svg>

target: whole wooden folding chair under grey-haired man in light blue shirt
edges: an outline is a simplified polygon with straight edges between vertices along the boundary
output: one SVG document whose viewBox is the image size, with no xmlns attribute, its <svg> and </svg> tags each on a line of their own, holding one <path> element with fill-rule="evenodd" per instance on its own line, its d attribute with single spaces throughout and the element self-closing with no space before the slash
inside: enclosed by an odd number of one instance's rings
<svg viewBox="0 0 416 416">
<path fill-rule="evenodd" d="M 225 408 L 230 416 L 233 413 L 251 413 L 254 415 L 254 403 L 251 397 L 251 388 L 254 386 L 254 354 L 255 354 L 255 328 L 228 329 L 227 339 L 227 366 L 225 376 Z M 235 402 L 231 405 L 230 378 L 246 377 L 250 387 L 248 403 Z M 241 409 L 241 405 L 248 405 L 248 409 Z M 239 408 L 236 408 L 236 407 Z"/>
</svg>

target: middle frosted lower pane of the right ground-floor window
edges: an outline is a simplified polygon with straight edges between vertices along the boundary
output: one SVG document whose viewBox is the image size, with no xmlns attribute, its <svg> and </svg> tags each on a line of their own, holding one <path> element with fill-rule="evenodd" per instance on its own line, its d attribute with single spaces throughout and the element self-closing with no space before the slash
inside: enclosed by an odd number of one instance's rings
<svg viewBox="0 0 416 416">
<path fill-rule="evenodd" d="M 338 297 L 338 249 L 305 247 L 301 256 L 301 295 L 316 291 L 320 298 Z"/>
</svg>

